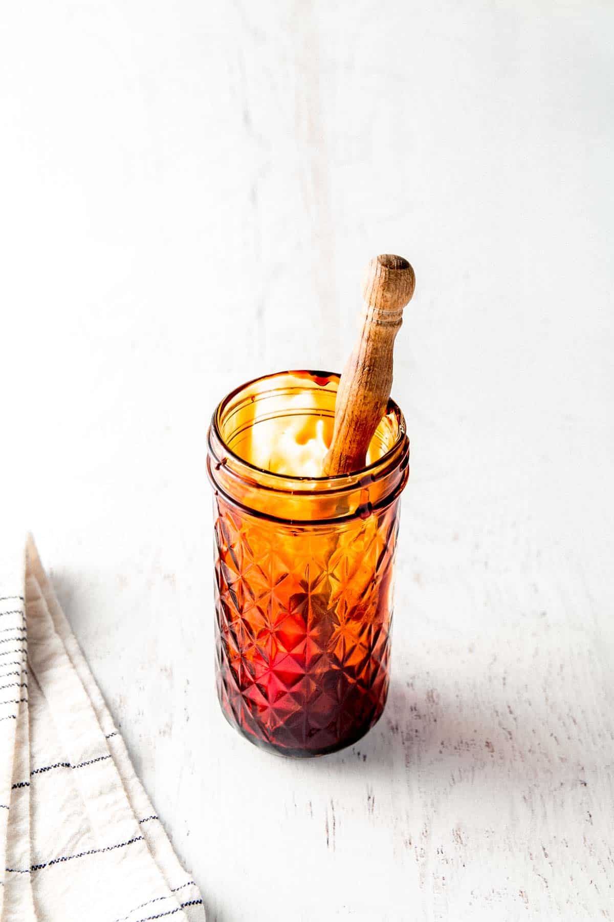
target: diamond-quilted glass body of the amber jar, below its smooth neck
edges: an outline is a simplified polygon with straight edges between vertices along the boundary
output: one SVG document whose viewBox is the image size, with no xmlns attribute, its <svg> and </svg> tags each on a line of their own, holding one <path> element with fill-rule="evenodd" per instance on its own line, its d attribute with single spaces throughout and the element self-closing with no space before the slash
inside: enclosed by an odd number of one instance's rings
<svg viewBox="0 0 614 922">
<path fill-rule="evenodd" d="M 340 749 L 388 692 L 398 502 L 280 526 L 215 499 L 217 690 L 228 721 L 288 755 Z"/>
</svg>

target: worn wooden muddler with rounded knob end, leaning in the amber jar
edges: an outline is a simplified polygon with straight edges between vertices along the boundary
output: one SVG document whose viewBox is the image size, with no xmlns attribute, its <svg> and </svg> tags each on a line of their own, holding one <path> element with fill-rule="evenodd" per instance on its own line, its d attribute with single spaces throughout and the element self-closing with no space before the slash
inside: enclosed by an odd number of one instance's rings
<svg viewBox="0 0 614 922">
<path fill-rule="evenodd" d="M 394 340 L 415 284 L 413 269 L 402 256 L 376 256 L 367 266 L 363 328 L 339 382 L 335 428 L 324 458 L 325 475 L 365 467 L 369 443 L 386 412 Z"/>
</svg>

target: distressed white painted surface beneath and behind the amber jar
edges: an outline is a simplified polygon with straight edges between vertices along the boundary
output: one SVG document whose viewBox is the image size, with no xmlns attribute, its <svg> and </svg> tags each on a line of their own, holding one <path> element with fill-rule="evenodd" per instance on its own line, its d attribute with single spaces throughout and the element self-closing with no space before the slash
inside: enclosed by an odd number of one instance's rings
<svg viewBox="0 0 614 922">
<path fill-rule="evenodd" d="M 3 528 L 210 922 L 614 918 L 614 7 L 0 9 Z M 213 691 L 211 409 L 411 258 L 394 680 L 352 750 Z"/>
</svg>

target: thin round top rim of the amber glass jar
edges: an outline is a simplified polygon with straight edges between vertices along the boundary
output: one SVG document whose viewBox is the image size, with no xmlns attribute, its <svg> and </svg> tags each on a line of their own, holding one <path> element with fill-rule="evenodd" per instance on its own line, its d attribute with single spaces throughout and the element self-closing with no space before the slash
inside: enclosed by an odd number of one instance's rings
<svg viewBox="0 0 614 922">
<path fill-rule="evenodd" d="M 211 429 L 214 431 L 215 437 L 219 440 L 220 444 L 224 446 L 224 450 L 235 461 L 237 461 L 239 465 L 248 467 L 249 470 L 254 471 L 256 474 L 264 474 L 266 475 L 267 478 L 270 477 L 273 479 L 278 479 L 280 484 L 282 481 L 286 481 L 286 482 L 295 481 L 296 483 L 300 483 L 300 484 L 313 483 L 313 482 L 323 484 L 323 483 L 332 482 L 333 484 L 339 485 L 341 484 L 343 480 L 347 481 L 348 479 L 354 479 L 354 478 L 361 479 L 365 477 L 365 474 L 366 475 L 371 474 L 377 468 L 386 467 L 388 461 L 391 460 L 392 455 L 394 455 L 398 451 L 400 443 L 402 443 L 405 439 L 407 439 L 407 427 L 405 423 L 405 417 L 403 416 L 403 412 L 399 404 L 395 400 L 393 400 L 392 397 L 388 397 L 388 405 L 387 405 L 386 412 L 394 413 L 397 419 L 397 422 L 398 422 L 399 431 L 397 433 L 397 437 L 394 443 L 392 443 L 392 445 L 390 445 L 390 447 L 388 448 L 388 451 L 385 452 L 384 455 L 381 455 L 380 457 L 376 458 L 375 461 L 372 461 L 371 464 L 366 465 L 365 467 L 359 467 L 357 470 L 349 471 L 347 473 L 342 473 L 342 474 L 329 474 L 329 475 L 323 475 L 320 477 L 309 477 L 309 476 L 302 475 L 302 474 L 301 475 L 280 474 L 277 471 L 266 470 L 266 468 L 264 467 L 258 467 L 257 465 L 251 464 L 250 461 L 248 461 L 246 458 L 241 457 L 240 455 L 237 455 L 237 453 L 234 452 L 232 448 L 230 448 L 226 444 L 226 441 L 224 439 L 224 436 L 222 435 L 220 425 L 219 425 L 219 422 L 222 418 L 222 413 L 224 412 L 229 402 L 233 399 L 233 397 L 237 396 L 237 394 L 239 394 L 242 390 L 245 390 L 246 388 L 250 387 L 252 384 L 258 384 L 259 382 L 265 381 L 265 380 L 274 380 L 275 378 L 281 378 L 281 377 L 284 377 L 284 375 L 288 375 L 288 374 L 296 375 L 297 377 L 304 376 L 307 374 L 307 375 L 310 375 L 312 378 L 316 379 L 316 383 L 318 383 L 317 381 L 318 378 L 325 381 L 325 384 L 328 384 L 330 380 L 336 379 L 337 383 L 339 383 L 339 381 L 341 380 L 341 374 L 339 374 L 338 372 L 322 372 L 322 371 L 315 371 L 313 369 L 291 369 L 288 371 L 271 372 L 269 374 L 258 375 L 258 377 L 256 378 L 251 378 L 251 380 L 245 381 L 243 382 L 243 384 L 239 384 L 237 387 L 234 388 L 234 390 L 230 391 L 229 394 L 226 394 L 226 396 L 222 400 L 220 400 L 220 402 L 217 404 L 217 406 L 214 409 L 213 416 L 211 419 Z"/>
</svg>

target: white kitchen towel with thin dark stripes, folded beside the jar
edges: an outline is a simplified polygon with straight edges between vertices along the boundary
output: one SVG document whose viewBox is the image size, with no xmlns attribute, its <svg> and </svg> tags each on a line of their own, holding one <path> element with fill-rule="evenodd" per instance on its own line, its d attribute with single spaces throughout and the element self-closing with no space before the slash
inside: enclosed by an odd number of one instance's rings
<svg viewBox="0 0 614 922">
<path fill-rule="evenodd" d="M 31 539 L 0 551 L 0 922 L 203 922 Z"/>
</svg>

